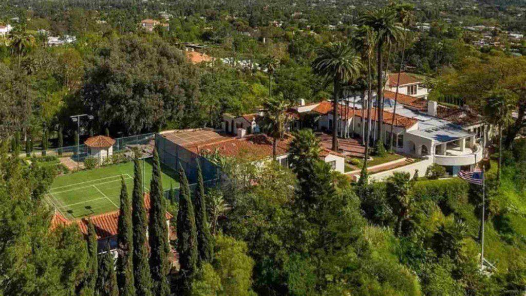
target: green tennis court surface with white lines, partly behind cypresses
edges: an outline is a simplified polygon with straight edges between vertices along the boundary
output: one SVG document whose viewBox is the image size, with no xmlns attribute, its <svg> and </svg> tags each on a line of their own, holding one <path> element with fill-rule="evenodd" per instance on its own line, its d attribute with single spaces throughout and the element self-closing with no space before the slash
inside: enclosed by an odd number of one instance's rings
<svg viewBox="0 0 526 296">
<path fill-rule="evenodd" d="M 142 166 L 143 161 L 140 164 Z M 146 160 L 144 167 L 146 191 L 150 188 L 151 170 L 151 159 L 149 159 Z M 170 184 L 178 188 L 177 173 L 164 165 L 161 165 L 161 170 L 164 189 L 169 189 Z M 60 175 L 54 180 L 46 198 L 67 219 L 115 211 L 119 209 L 122 180 L 126 183 L 131 198 L 133 171 L 134 163 L 127 162 Z"/>
</svg>

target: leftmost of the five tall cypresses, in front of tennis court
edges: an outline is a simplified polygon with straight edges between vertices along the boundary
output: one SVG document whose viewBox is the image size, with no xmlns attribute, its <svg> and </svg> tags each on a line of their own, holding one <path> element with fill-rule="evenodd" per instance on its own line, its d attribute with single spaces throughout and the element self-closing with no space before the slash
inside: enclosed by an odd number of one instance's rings
<svg viewBox="0 0 526 296">
<path fill-rule="evenodd" d="M 117 235 L 119 257 L 117 259 L 117 284 L 120 296 L 135 296 L 133 278 L 133 225 L 131 225 L 131 204 L 126 183 L 122 180 L 120 189 L 120 213 Z"/>
</svg>

